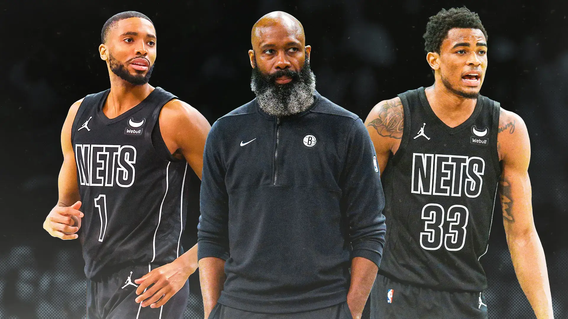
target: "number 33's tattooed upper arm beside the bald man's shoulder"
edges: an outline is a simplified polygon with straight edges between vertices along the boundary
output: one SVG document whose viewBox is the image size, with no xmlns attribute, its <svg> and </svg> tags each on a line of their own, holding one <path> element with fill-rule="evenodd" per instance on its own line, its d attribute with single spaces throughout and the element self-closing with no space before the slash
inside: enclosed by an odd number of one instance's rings
<svg viewBox="0 0 568 319">
<path fill-rule="evenodd" d="M 400 98 L 385 100 L 373 107 L 365 120 L 365 126 L 377 152 L 381 173 L 390 154 L 396 153 L 404 129 L 404 109 Z"/>
</svg>

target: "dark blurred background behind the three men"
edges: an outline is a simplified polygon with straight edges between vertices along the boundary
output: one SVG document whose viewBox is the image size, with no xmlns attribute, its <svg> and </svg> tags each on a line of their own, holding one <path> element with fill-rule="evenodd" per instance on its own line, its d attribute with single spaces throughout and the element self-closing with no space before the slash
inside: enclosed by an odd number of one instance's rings
<svg viewBox="0 0 568 319">
<path fill-rule="evenodd" d="M 110 16 L 136 10 L 153 20 L 159 41 L 150 83 L 213 123 L 254 98 L 247 56 L 254 22 L 270 11 L 289 12 L 303 23 L 312 46 L 318 91 L 365 119 L 379 101 L 432 84 L 422 39 L 428 17 L 463 5 L 479 13 L 489 34 L 481 93 L 527 123 L 534 220 L 556 318 L 568 318 L 566 1 L 2 0 L 0 319 L 85 317 L 80 246 L 50 237 L 42 223 L 57 201 L 67 111 L 76 100 L 110 86 L 97 51 Z M 195 175 L 191 187 L 186 248 L 197 241 Z M 499 211 L 482 261 L 490 318 L 534 318 L 513 271 Z M 191 278 L 193 288 L 197 276 Z"/>
</svg>

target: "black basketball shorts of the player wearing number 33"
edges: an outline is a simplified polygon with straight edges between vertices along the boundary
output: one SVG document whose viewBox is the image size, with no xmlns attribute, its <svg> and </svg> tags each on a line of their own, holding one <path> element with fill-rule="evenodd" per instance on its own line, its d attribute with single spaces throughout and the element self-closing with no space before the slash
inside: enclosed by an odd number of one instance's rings
<svg viewBox="0 0 568 319">
<path fill-rule="evenodd" d="M 371 289 L 371 319 L 487 319 L 483 292 L 448 292 L 394 282 L 382 275 Z"/>
</svg>

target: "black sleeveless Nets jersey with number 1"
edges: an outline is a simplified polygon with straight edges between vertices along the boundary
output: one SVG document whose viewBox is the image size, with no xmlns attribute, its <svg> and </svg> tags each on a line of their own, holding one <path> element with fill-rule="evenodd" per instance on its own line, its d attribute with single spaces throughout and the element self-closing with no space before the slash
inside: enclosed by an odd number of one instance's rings
<svg viewBox="0 0 568 319">
<path fill-rule="evenodd" d="M 164 265 L 183 253 L 187 163 L 171 156 L 158 123 L 161 108 L 176 96 L 156 87 L 108 119 L 102 107 L 109 92 L 83 99 L 71 136 L 87 278 L 132 264 Z"/>
</svg>

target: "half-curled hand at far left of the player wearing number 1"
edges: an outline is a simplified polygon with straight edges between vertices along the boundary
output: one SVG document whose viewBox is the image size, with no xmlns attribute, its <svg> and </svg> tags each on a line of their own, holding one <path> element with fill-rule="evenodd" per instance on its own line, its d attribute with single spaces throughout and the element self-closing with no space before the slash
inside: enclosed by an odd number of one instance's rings
<svg viewBox="0 0 568 319">
<path fill-rule="evenodd" d="M 53 237 L 62 240 L 72 240 L 79 237 L 76 232 L 81 228 L 81 217 L 85 216 L 78 211 L 81 201 L 77 201 L 69 207 L 53 207 L 45 218 L 43 229 Z"/>
</svg>

